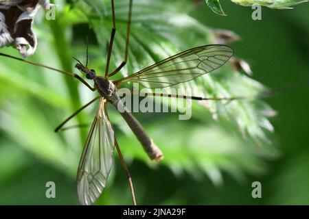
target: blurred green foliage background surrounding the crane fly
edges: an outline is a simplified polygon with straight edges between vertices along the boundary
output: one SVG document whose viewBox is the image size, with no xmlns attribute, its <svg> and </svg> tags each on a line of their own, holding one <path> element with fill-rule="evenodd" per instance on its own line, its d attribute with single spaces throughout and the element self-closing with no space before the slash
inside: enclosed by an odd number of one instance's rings
<svg viewBox="0 0 309 219">
<path fill-rule="evenodd" d="M 264 86 L 282 88 L 308 80 L 309 4 L 293 10 L 262 8 L 262 21 L 253 21 L 251 8 L 229 1 L 222 4 L 228 16 L 214 14 L 203 1 L 133 2 L 129 64 L 122 75 L 185 49 L 216 43 L 211 28 L 218 28 L 240 36 L 229 45 L 236 57 L 251 64 L 253 76 L 226 64 L 188 83 L 198 88 L 198 95 L 250 96 Z M 73 70 L 71 56 L 85 62 L 88 37 L 89 66 L 104 72 L 110 2 L 56 4 L 55 21 L 47 21 L 43 11 L 36 16 L 38 49 L 30 60 Z M 128 1 L 116 1 L 118 32 L 110 69 L 123 59 L 127 5 Z M 12 48 L 1 52 L 19 56 Z M 60 134 L 53 130 L 95 94 L 75 79 L 5 57 L 0 58 L 0 80 L 0 204 L 78 205 L 76 171 L 89 127 Z M 70 124 L 92 121 L 97 105 Z M 149 161 L 122 118 L 109 109 L 133 176 L 137 204 L 309 204 L 308 86 L 265 100 L 192 107 L 191 120 L 178 120 L 177 113 L 135 114 L 165 154 L 160 164 Z M 272 108 L 277 115 L 268 118 Z M 56 183 L 56 198 L 45 197 L 47 181 Z M 253 181 L 262 183 L 262 198 L 252 198 Z M 97 204 L 131 204 L 116 153 Z"/>
</svg>

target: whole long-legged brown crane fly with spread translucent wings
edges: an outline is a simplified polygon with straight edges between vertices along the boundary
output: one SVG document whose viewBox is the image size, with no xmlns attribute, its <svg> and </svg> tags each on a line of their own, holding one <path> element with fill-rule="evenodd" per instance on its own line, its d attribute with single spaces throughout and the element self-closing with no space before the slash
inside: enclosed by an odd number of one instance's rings
<svg viewBox="0 0 309 219">
<path fill-rule="evenodd" d="M 205 75 L 206 73 L 219 68 L 229 58 L 233 55 L 233 49 L 222 44 L 211 44 L 205 45 L 202 47 L 196 47 L 183 51 L 171 57 L 168 57 L 161 62 L 152 64 L 143 70 L 139 70 L 137 73 L 123 77 L 122 79 L 117 79 L 112 81 L 109 79 L 111 76 L 119 72 L 127 63 L 128 60 L 128 44 L 130 36 L 130 22 L 132 16 L 132 5 L 133 0 L 129 1 L 128 9 L 128 23 L 126 29 L 126 45 L 124 51 L 124 61 L 111 73 L 109 73 L 109 64 L 111 60 L 111 53 L 113 49 L 113 41 L 115 38 L 116 32 L 116 22 L 115 22 L 115 7 L 114 1 L 111 0 L 111 10 L 113 16 L 113 28 L 111 30 L 111 39 L 108 46 L 108 54 L 106 60 L 105 75 L 99 76 L 95 73 L 95 70 L 88 68 L 88 44 L 87 44 L 87 63 L 83 65 L 79 60 L 76 59 L 77 64 L 76 68 L 80 70 L 82 74 L 86 76 L 87 79 L 92 80 L 94 86 L 90 86 L 87 81 L 82 79 L 79 75 L 65 70 L 59 70 L 43 64 L 38 64 L 36 62 L 31 62 L 23 60 L 19 57 L 14 57 L 11 55 L 6 55 L 0 53 L 0 55 L 5 57 L 10 57 L 15 60 L 20 60 L 27 62 L 28 64 L 33 64 L 36 66 L 41 66 L 44 68 L 49 68 L 55 70 L 58 73 L 69 75 L 75 77 L 85 86 L 87 86 L 93 92 L 97 91 L 98 96 L 95 97 L 92 101 L 82 106 L 79 110 L 74 112 L 69 116 L 63 123 L 61 123 L 57 128 L 56 132 L 60 131 L 62 127 L 67 123 L 71 118 L 76 116 L 84 108 L 88 107 L 96 100 L 100 99 L 98 105 L 98 110 L 95 114 L 95 118 L 91 125 L 89 135 L 82 152 L 82 157 L 80 159 L 80 164 L 78 166 L 77 174 L 77 188 L 78 188 L 78 198 L 82 205 L 92 205 L 95 203 L 97 198 L 102 194 L 106 186 L 106 181 L 108 179 L 111 166 L 113 164 L 113 153 L 114 147 L 117 149 L 119 158 L 122 162 L 122 166 L 126 172 L 128 183 L 130 186 L 130 192 L 133 197 L 133 204 L 136 205 L 135 201 L 135 192 L 133 188 L 132 179 L 130 177 L 130 172 L 124 162 L 124 158 L 119 149 L 119 145 L 115 138 L 115 133 L 111 125 L 110 120 L 108 119 L 107 105 L 111 104 L 116 107 L 118 110 L 119 107 L 122 108 L 122 112 L 119 113 L 122 115 L 130 129 L 135 133 L 135 136 L 143 146 L 144 150 L 150 157 L 150 159 L 159 161 L 163 159 L 163 153 L 157 147 L 157 145 L 152 141 L 150 136 L 144 131 L 144 128 L 138 122 L 138 120 L 129 112 L 122 100 L 119 98 L 117 88 L 123 83 L 128 82 L 137 82 L 146 88 L 164 88 L 168 86 L 174 86 L 178 83 L 185 83 L 191 81 L 196 77 Z M 75 58 L 74 58 L 75 59 Z M 197 101 L 203 100 L 231 100 L 232 98 L 203 98 L 199 96 L 178 96 L 176 94 L 163 94 L 150 92 L 146 93 L 150 96 L 168 96 L 170 98 L 183 98 L 183 99 L 193 99 Z"/>
</svg>

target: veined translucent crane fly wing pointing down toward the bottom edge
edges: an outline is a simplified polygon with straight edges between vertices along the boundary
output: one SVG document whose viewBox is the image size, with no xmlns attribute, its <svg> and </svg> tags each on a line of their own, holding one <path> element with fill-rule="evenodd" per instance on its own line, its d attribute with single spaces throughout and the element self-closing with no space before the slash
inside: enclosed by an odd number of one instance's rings
<svg viewBox="0 0 309 219">
<path fill-rule="evenodd" d="M 104 104 L 102 98 L 78 167 L 78 198 L 82 205 L 92 205 L 101 195 L 113 164 L 114 131 Z"/>
</svg>

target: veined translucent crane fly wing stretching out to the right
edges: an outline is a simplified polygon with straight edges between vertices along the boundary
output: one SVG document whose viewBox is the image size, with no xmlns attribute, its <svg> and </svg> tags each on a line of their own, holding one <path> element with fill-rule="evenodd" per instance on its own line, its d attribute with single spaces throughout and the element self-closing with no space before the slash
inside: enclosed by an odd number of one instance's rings
<svg viewBox="0 0 309 219">
<path fill-rule="evenodd" d="M 146 88 L 163 88 L 192 79 L 219 68 L 233 55 L 233 49 L 215 44 L 189 49 L 124 77 L 115 84 L 139 82 Z"/>
</svg>

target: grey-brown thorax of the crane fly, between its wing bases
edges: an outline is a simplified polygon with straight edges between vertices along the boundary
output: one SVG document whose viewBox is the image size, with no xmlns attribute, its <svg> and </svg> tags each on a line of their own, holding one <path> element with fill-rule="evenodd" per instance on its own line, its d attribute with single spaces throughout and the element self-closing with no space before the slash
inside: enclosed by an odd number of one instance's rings
<svg viewBox="0 0 309 219">
<path fill-rule="evenodd" d="M 104 77 L 95 77 L 93 80 L 95 82 L 95 87 L 98 88 L 99 94 L 108 101 L 111 101 L 114 105 L 117 105 L 119 96 L 114 83 Z"/>
</svg>

